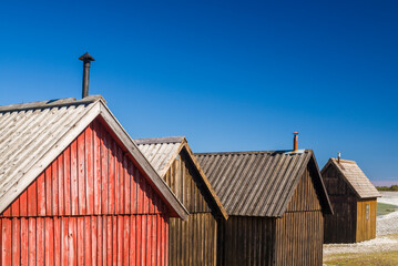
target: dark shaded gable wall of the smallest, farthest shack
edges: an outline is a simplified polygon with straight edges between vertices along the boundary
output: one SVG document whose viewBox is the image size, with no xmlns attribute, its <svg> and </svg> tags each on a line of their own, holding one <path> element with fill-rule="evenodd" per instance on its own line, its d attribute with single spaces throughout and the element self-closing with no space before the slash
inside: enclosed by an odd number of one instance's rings
<svg viewBox="0 0 398 266">
<path fill-rule="evenodd" d="M 357 232 L 357 196 L 333 165 L 323 171 L 334 215 L 325 215 L 324 243 L 355 243 Z"/>
</svg>

